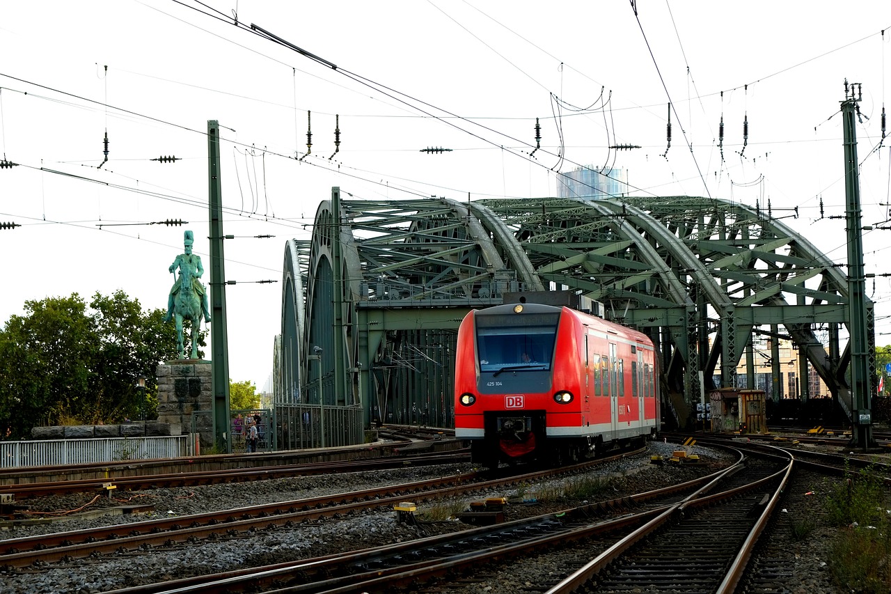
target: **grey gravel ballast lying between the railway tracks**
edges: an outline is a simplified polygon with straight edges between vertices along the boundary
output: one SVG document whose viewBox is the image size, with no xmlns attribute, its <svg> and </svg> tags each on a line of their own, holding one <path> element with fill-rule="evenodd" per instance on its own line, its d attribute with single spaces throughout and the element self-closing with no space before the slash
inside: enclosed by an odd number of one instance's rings
<svg viewBox="0 0 891 594">
<path fill-rule="evenodd" d="M 707 472 L 714 472 L 718 466 L 729 461 L 726 454 L 695 446 L 691 453 L 699 454 L 701 462 L 694 465 L 650 464 L 654 454 L 670 456 L 674 444 L 651 442 L 642 455 L 623 458 L 596 466 L 586 475 L 608 479 L 608 488 L 597 499 L 614 499 L 636 492 L 648 491 L 666 484 L 680 483 Z M 297 477 L 256 481 L 252 483 L 216 484 L 203 487 L 157 489 L 134 493 L 117 494 L 118 499 L 144 503 L 151 501 L 155 511 L 139 516 L 105 516 L 91 520 L 75 517 L 54 524 L 20 526 L 0 532 L 3 539 L 19 538 L 48 532 L 64 532 L 110 524 L 127 524 L 160 516 L 186 516 L 211 510 L 246 507 L 277 501 L 306 499 L 347 491 L 370 489 L 386 484 L 419 481 L 425 478 L 468 472 L 470 465 L 421 466 L 393 471 L 331 474 L 312 477 Z M 477 492 L 459 501 L 419 502 L 418 516 L 421 520 L 433 507 L 462 507 L 470 501 L 487 497 L 507 497 L 535 499 L 535 493 L 553 493 L 561 484 L 570 480 L 567 477 L 535 484 L 524 484 L 518 488 L 505 488 L 495 492 Z M 804 489 L 794 485 L 795 489 Z M 812 487 L 806 487 L 811 489 Z M 57 511 L 75 509 L 88 503 L 92 496 L 69 495 L 29 500 L 32 509 Z M 773 557 L 785 555 L 791 569 L 788 592 L 798 594 L 829 594 L 837 592 L 831 587 L 826 570 L 827 547 L 830 529 L 819 524 L 819 501 L 815 497 L 791 498 L 794 506 L 784 512 L 789 518 L 810 517 L 818 521 L 812 538 L 794 541 L 789 538 L 789 530 L 778 531 L 772 538 L 787 539 L 771 551 Z M 592 501 L 593 502 L 593 501 Z M 538 515 L 567 507 L 582 505 L 582 501 L 547 500 L 538 505 L 525 505 L 514 509 L 509 506 L 507 519 L 515 519 L 517 514 Z M 102 498 L 88 508 L 122 505 L 115 499 Z M 131 551 L 119 555 L 107 555 L 76 559 L 67 563 L 47 564 L 30 567 L 26 570 L 0 572 L 0 592 L 28 592 L 29 594 L 67 592 L 102 592 L 148 582 L 163 582 L 195 574 L 217 573 L 222 571 L 282 563 L 307 557 L 317 557 L 353 549 L 364 549 L 391 542 L 402 542 L 421 538 L 433 533 L 452 532 L 466 529 L 454 519 L 415 527 L 396 522 L 392 509 L 378 509 L 358 513 L 339 519 L 323 518 L 318 521 L 298 524 L 293 528 L 266 529 L 250 532 L 225 540 L 202 540 L 201 542 L 175 547 L 163 547 L 150 551 Z M 785 536 L 783 536 L 785 535 Z M 462 587 L 437 585 L 440 592 L 517 592 L 525 582 L 535 583 L 535 575 L 552 572 L 552 566 L 536 566 L 535 558 L 523 558 L 519 565 L 505 565 L 493 570 L 491 580 L 467 583 Z M 544 572 L 544 573 L 541 573 Z M 502 575 L 502 578 L 498 578 Z M 518 582 L 519 580 L 519 582 Z"/>
</svg>

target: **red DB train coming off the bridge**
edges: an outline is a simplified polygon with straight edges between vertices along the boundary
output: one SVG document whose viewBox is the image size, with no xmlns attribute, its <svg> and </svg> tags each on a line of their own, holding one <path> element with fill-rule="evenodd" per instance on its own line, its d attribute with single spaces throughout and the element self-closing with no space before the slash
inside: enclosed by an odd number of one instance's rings
<svg viewBox="0 0 891 594">
<path fill-rule="evenodd" d="M 455 436 L 473 461 L 564 464 L 658 432 L 645 334 L 568 307 L 471 311 L 458 330 Z"/>
</svg>

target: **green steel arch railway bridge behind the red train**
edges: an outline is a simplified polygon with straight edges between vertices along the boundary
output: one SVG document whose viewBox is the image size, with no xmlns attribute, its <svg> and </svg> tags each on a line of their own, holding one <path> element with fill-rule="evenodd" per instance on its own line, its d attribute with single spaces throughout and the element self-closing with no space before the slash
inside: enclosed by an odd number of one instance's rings
<svg viewBox="0 0 891 594">
<path fill-rule="evenodd" d="M 682 428 L 714 376 L 754 387 L 758 333 L 789 338 L 802 366 L 810 362 L 852 412 L 850 342 L 839 346 L 846 276 L 780 220 L 735 202 L 359 201 L 333 188 L 312 239 L 287 243 L 283 280 L 275 402 L 318 403 L 323 392 L 327 405 L 361 406 L 365 426 L 452 426 L 461 319 L 505 293 L 554 289 L 600 301 L 606 318 L 653 338 L 667 409 Z M 738 378 L 744 355 L 748 378 Z"/>
</svg>

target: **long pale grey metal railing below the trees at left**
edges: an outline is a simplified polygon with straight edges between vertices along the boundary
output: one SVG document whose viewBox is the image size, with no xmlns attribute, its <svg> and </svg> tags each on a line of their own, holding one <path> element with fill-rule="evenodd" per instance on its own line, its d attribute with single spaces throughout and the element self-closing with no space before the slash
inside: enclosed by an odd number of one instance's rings
<svg viewBox="0 0 891 594">
<path fill-rule="evenodd" d="M 59 466 L 192 455 L 188 435 L 0 441 L 0 468 Z"/>
</svg>

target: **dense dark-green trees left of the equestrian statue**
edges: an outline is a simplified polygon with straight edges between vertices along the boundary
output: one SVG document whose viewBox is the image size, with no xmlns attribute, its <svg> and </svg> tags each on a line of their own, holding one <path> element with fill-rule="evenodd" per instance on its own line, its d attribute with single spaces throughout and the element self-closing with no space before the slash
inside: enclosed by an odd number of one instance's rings
<svg viewBox="0 0 891 594">
<path fill-rule="evenodd" d="M 96 293 L 89 309 L 78 293 L 26 301 L 25 314 L 0 330 L 0 429 L 19 438 L 36 425 L 154 417 L 155 367 L 176 357 L 163 315 L 122 291 Z"/>
</svg>

